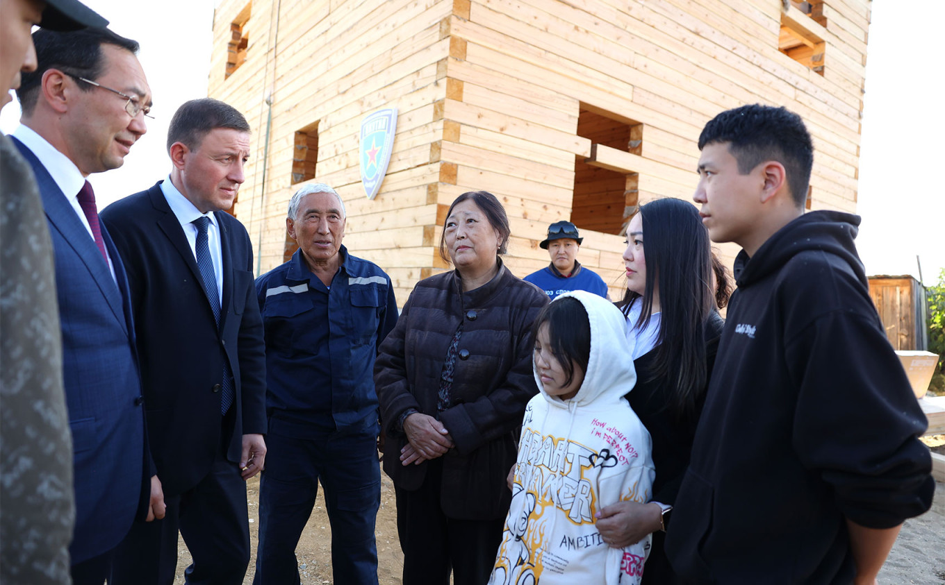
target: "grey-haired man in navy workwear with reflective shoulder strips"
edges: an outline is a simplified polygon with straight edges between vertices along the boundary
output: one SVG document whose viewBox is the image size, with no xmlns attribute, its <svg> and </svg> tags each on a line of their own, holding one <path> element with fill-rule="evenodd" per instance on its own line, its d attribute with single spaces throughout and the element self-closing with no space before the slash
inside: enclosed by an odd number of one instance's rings
<svg viewBox="0 0 945 585">
<path fill-rule="evenodd" d="M 307 185 L 289 202 L 292 259 L 256 280 L 266 329 L 266 470 L 253 583 L 299 583 L 295 548 L 318 493 L 332 525 L 335 583 L 377 583 L 381 502 L 377 347 L 397 322 L 390 277 L 348 254 L 345 207 Z"/>
</svg>

